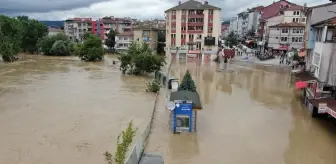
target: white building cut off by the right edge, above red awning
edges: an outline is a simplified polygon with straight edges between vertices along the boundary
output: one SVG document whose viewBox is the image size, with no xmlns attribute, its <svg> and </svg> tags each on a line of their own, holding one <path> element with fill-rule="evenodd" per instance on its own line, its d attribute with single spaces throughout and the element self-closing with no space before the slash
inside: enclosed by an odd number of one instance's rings
<svg viewBox="0 0 336 164">
<path fill-rule="evenodd" d="M 321 82 L 336 85 L 336 2 L 306 9 L 306 62 Z"/>
</svg>

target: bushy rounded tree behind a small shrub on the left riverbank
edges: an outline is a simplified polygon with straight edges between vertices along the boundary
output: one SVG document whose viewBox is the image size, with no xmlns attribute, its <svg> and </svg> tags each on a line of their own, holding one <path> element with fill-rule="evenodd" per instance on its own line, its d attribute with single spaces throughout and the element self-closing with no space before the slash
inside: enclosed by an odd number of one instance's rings
<svg viewBox="0 0 336 164">
<path fill-rule="evenodd" d="M 56 54 L 53 54 L 53 52 L 55 51 L 52 51 L 52 47 L 56 41 L 65 41 L 66 43 L 70 43 L 68 36 L 66 36 L 63 33 L 60 33 L 53 36 L 45 36 L 39 39 L 38 47 L 44 55 L 57 56 Z"/>
</svg>

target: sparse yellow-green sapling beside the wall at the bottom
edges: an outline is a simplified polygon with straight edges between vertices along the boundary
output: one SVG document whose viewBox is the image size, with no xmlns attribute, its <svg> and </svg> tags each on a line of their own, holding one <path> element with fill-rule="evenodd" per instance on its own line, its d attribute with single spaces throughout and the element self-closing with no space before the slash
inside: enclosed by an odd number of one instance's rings
<svg viewBox="0 0 336 164">
<path fill-rule="evenodd" d="M 131 121 L 127 129 L 122 131 L 121 134 L 117 138 L 117 150 L 114 154 L 114 156 L 106 151 L 104 153 L 105 160 L 108 164 L 124 164 L 127 151 L 129 149 L 129 146 L 133 142 L 133 138 L 136 134 L 137 129 L 133 128 L 133 122 Z M 121 139 L 120 139 L 121 137 Z"/>
</svg>

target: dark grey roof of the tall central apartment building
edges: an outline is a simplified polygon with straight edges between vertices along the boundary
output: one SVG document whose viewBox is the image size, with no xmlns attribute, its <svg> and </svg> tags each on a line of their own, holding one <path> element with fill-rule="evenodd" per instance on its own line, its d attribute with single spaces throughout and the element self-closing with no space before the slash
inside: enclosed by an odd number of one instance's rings
<svg viewBox="0 0 336 164">
<path fill-rule="evenodd" d="M 172 11 L 172 10 L 207 10 L 207 9 L 221 10 L 221 8 L 219 7 L 209 5 L 208 1 L 201 3 L 195 0 L 189 0 L 184 3 L 179 2 L 179 5 L 172 7 L 166 10 L 165 12 Z"/>
</svg>

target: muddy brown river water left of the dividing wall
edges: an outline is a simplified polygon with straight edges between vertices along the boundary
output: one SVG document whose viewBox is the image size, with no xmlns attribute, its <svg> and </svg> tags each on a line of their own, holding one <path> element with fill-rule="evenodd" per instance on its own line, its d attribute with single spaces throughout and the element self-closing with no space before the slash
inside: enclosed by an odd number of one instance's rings
<svg viewBox="0 0 336 164">
<path fill-rule="evenodd" d="M 103 164 L 130 120 L 142 132 L 155 96 L 112 60 L 0 63 L 0 164 Z"/>
</svg>

